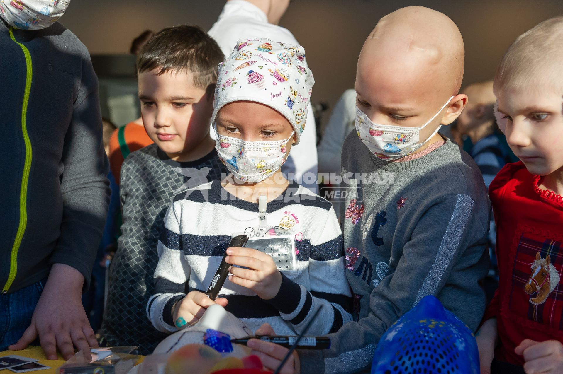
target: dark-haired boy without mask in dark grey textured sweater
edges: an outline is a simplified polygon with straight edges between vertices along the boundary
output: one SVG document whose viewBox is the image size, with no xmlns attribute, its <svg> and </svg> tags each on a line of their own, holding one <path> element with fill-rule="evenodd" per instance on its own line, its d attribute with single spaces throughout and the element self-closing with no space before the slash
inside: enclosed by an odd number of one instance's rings
<svg viewBox="0 0 563 374">
<path fill-rule="evenodd" d="M 164 214 L 177 193 L 226 173 L 209 137 L 222 61 L 215 40 L 187 25 L 160 30 L 137 57 L 141 114 L 154 144 L 129 155 L 121 169 L 122 236 L 102 326 L 108 345 L 147 354 L 164 336 L 145 314 Z"/>
</svg>

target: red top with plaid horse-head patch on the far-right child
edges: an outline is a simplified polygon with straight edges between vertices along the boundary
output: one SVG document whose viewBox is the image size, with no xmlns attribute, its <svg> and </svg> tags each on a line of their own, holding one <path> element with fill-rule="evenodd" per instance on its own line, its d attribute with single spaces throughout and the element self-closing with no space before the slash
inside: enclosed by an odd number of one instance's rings
<svg viewBox="0 0 563 374">
<path fill-rule="evenodd" d="M 514 349 L 524 339 L 563 343 L 563 199 L 539 181 L 518 162 L 489 187 L 500 282 L 483 321 L 497 318 L 495 357 L 517 365 L 524 358 Z"/>
</svg>

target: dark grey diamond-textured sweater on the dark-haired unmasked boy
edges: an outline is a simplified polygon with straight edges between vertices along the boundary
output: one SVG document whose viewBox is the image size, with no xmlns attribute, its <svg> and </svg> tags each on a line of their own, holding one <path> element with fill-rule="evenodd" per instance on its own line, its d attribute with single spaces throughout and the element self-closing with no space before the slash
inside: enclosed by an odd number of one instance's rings
<svg viewBox="0 0 563 374">
<path fill-rule="evenodd" d="M 102 330 L 110 346 L 138 346 L 150 354 L 167 335 L 146 318 L 154 289 L 157 243 L 172 199 L 187 188 L 227 173 L 212 150 L 199 160 L 178 163 L 151 144 L 127 157 L 121 168 L 119 195 L 122 235 L 109 269 L 108 303 Z"/>
</svg>

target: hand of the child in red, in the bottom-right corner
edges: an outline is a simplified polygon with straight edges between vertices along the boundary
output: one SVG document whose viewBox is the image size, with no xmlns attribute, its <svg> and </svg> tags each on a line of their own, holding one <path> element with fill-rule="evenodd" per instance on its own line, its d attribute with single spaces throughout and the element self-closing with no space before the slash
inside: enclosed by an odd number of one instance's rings
<svg viewBox="0 0 563 374">
<path fill-rule="evenodd" d="M 526 374 L 563 373 L 563 344 L 558 340 L 524 339 L 514 352 L 524 356 Z"/>
</svg>

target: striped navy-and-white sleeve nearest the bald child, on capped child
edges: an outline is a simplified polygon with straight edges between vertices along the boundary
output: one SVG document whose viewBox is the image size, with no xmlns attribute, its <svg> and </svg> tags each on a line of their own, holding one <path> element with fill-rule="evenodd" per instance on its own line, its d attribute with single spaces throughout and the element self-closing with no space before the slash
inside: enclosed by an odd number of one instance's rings
<svg viewBox="0 0 563 374">
<path fill-rule="evenodd" d="M 307 334 L 325 335 L 352 321 L 351 292 L 345 274 L 342 232 L 332 206 L 325 219 L 315 222 L 308 268 L 311 291 L 282 274 L 278 295 L 267 303 L 274 305 L 297 333 L 320 309 Z"/>
</svg>

